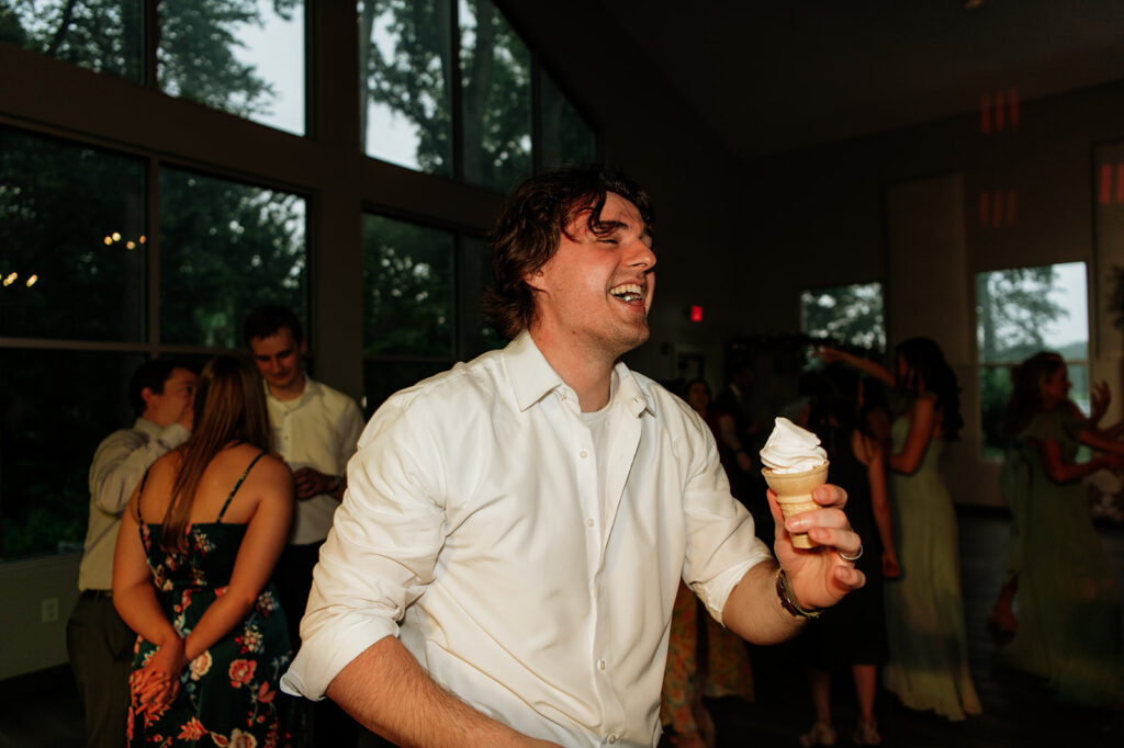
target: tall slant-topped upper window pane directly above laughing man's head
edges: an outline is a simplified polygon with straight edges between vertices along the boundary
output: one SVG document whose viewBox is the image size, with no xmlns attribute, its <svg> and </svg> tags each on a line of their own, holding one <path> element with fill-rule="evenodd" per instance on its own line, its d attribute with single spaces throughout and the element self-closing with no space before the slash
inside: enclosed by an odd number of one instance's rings
<svg viewBox="0 0 1124 748">
<path fill-rule="evenodd" d="M 464 177 L 507 192 L 531 164 L 531 52 L 491 0 L 459 0 Z"/>
</svg>

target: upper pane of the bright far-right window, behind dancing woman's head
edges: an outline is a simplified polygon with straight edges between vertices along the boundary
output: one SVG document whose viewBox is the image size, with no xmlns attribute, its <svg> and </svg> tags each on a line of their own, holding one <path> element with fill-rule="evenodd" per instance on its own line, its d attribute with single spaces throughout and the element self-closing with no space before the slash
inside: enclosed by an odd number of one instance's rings
<svg viewBox="0 0 1124 748">
<path fill-rule="evenodd" d="M 1085 263 L 977 274 L 980 363 L 1018 363 L 1040 350 L 1054 350 L 1067 361 L 1086 361 L 1087 289 Z"/>
</svg>

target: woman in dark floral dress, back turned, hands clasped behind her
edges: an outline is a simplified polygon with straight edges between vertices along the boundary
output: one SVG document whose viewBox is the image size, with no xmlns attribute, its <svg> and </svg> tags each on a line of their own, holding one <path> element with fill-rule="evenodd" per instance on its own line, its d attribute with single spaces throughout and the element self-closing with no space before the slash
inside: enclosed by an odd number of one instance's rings
<svg viewBox="0 0 1124 748">
<path fill-rule="evenodd" d="M 270 574 L 293 511 L 269 455 L 253 364 L 203 368 L 194 431 L 153 464 L 121 520 L 114 604 L 137 632 L 130 746 L 290 746 L 278 682 L 291 658 Z"/>
</svg>

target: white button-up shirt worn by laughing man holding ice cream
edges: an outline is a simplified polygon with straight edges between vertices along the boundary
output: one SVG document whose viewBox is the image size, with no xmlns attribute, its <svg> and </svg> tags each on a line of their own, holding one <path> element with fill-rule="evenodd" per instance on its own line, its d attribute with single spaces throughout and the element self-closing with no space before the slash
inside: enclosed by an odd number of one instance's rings
<svg viewBox="0 0 1124 748">
<path fill-rule="evenodd" d="M 654 746 L 680 576 L 720 620 L 771 554 L 706 423 L 624 364 L 614 377 L 600 466 L 575 393 L 527 334 L 388 400 L 348 464 L 284 690 L 320 699 L 397 635 L 520 732 Z"/>
</svg>

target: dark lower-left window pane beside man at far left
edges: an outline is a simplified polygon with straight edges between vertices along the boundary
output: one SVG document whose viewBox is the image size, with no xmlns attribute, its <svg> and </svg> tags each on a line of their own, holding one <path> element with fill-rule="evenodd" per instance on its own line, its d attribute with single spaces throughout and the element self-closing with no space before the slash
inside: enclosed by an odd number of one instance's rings
<svg viewBox="0 0 1124 748">
<path fill-rule="evenodd" d="M 0 349 L 0 560 L 82 548 L 90 460 L 102 439 L 133 423 L 127 384 L 142 361 Z"/>
</svg>

